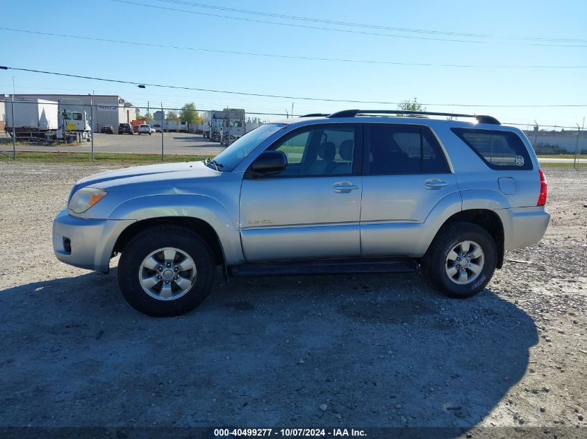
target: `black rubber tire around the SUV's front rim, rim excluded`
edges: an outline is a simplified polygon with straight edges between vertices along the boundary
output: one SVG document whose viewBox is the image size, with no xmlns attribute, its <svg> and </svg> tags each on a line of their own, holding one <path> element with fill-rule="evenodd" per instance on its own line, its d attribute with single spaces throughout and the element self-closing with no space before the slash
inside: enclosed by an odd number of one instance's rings
<svg viewBox="0 0 587 439">
<path fill-rule="evenodd" d="M 165 247 L 185 252 L 193 259 L 197 270 L 195 284 L 176 300 L 152 298 L 139 281 L 144 258 Z M 192 311 L 208 297 L 215 271 L 213 253 L 199 234 L 185 227 L 156 225 L 137 234 L 124 248 L 118 264 L 118 285 L 126 301 L 137 311 L 152 317 L 179 316 Z"/>
</svg>

